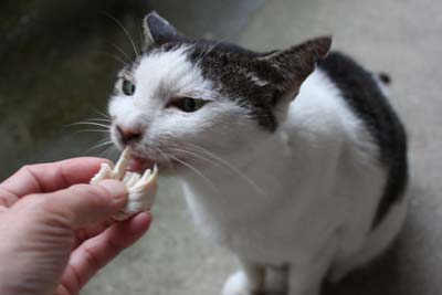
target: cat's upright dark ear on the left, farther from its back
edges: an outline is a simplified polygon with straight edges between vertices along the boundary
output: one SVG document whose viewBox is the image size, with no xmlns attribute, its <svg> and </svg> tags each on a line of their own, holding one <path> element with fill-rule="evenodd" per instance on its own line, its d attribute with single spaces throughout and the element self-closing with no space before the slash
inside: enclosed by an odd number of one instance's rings
<svg viewBox="0 0 442 295">
<path fill-rule="evenodd" d="M 143 20 L 145 33 L 145 45 L 161 45 L 172 41 L 183 41 L 186 39 L 173 25 L 161 18 L 156 11 L 150 12 Z"/>
</svg>

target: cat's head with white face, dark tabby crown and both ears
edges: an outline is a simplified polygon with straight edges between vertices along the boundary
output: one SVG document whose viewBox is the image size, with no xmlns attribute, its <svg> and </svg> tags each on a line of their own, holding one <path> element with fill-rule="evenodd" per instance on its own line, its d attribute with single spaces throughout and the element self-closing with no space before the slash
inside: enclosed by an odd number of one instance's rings
<svg viewBox="0 0 442 295">
<path fill-rule="evenodd" d="M 257 53 L 186 36 L 155 12 L 144 31 L 144 52 L 119 73 L 109 102 L 110 135 L 165 168 L 203 162 L 203 150 L 241 152 L 271 136 L 332 43 L 318 38 Z"/>
</svg>

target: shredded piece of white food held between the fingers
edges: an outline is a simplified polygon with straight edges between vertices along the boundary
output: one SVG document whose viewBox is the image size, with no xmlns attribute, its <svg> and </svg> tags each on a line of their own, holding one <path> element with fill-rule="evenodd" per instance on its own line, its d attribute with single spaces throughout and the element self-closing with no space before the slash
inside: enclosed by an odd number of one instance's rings
<svg viewBox="0 0 442 295">
<path fill-rule="evenodd" d="M 155 200 L 157 191 L 158 168 L 154 166 L 152 170 L 148 169 L 140 176 L 137 172 L 126 171 L 129 165 L 130 151 L 126 148 L 119 157 L 115 167 L 104 162 L 99 171 L 91 179 L 91 183 L 95 185 L 105 179 L 122 180 L 129 192 L 125 208 L 119 211 L 114 219 L 120 221 L 131 215 L 149 210 Z"/>
</svg>

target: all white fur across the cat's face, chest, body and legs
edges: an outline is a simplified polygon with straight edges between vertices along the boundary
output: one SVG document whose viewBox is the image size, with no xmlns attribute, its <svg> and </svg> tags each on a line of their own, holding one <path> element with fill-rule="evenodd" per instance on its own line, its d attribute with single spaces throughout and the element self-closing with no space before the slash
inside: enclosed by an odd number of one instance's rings
<svg viewBox="0 0 442 295">
<path fill-rule="evenodd" d="M 114 97 L 110 115 L 146 128 L 134 146 L 140 155 L 160 160 L 156 147 L 191 165 L 180 177 L 196 223 L 242 265 L 224 295 L 253 294 L 265 270 L 286 266 L 275 281 L 287 282 L 290 295 L 317 295 L 330 268 L 341 277 L 399 231 L 404 204 L 370 232 L 386 171 L 370 134 L 319 70 L 274 134 L 219 97 L 185 49 L 145 57 L 133 74 L 135 96 Z M 170 97 L 194 93 L 213 102 L 190 114 L 165 108 Z"/>
</svg>

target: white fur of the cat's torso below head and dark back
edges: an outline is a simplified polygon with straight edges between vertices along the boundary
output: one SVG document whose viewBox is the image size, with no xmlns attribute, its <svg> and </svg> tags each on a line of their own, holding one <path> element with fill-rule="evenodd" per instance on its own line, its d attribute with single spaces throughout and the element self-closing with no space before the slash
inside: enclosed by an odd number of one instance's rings
<svg viewBox="0 0 442 295">
<path fill-rule="evenodd" d="M 277 131 L 228 159 L 259 188 L 220 167 L 203 170 L 215 188 L 192 172 L 183 186 L 206 236 L 246 263 L 299 267 L 311 284 L 327 271 L 339 278 L 370 261 L 399 231 L 404 202 L 372 229 L 387 179 L 378 159 L 365 122 L 319 67 Z"/>
</svg>

